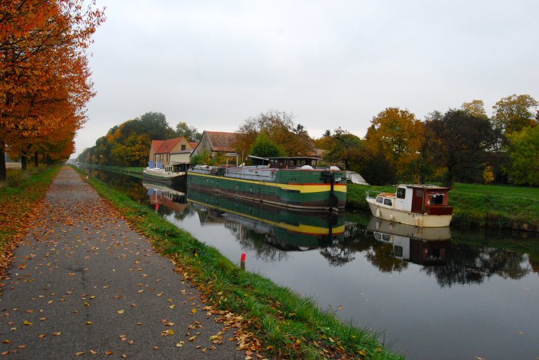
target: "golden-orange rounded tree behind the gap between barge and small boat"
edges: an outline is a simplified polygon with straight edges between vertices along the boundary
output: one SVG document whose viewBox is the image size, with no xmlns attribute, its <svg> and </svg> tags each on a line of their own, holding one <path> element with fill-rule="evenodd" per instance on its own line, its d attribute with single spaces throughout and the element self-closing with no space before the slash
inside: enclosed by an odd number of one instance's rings
<svg viewBox="0 0 539 360">
<path fill-rule="evenodd" d="M 423 124 L 408 110 L 390 107 L 371 121 L 365 136 L 365 146 L 373 154 L 382 155 L 401 179 L 415 178 L 415 163 L 425 138 Z"/>
</svg>

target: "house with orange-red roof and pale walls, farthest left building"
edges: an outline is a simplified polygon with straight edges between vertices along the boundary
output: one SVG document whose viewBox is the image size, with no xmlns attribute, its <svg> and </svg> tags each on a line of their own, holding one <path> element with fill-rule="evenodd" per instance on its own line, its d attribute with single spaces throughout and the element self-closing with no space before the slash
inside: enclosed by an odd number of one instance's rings
<svg viewBox="0 0 539 360">
<path fill-rule="evenodd" d="M 149 148 L 149 161 L 161 166 L 171 165 L 178 162 L 189 162 L 194 143 L 190 143 L 185 137 L 175 137 L 168 140 L 152 140 Z"/>
</svg>

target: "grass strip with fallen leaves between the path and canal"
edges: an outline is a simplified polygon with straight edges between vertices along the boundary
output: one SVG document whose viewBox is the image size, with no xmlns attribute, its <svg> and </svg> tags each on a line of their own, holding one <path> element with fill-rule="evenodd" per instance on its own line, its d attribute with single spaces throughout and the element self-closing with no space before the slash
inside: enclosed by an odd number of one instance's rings
<svg viewBox="0 0 539 360">
<path fill-rule="evenodd" d="M 311 299 L 240 270 L 218 250 L 124 193 L 97 179 L 88 182 L 158 251 L 173 258 L 182 275 L 197 284 L 213 307 L 241 319 L 245 327 L 237 337 L 250 339 L 245 349 L 279 359 L 402 359 L 380 345 L 376 334 L 342 324 Z"/>
</svg>

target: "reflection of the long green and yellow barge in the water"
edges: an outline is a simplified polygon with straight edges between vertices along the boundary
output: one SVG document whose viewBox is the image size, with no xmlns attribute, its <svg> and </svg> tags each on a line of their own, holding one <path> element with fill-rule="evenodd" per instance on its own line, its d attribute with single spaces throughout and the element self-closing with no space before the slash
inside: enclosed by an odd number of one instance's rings
<svg viewBox="0 0 539 360">
<path fill-rule="evenodd" d="M 305 212 L 189 188 L 187 202 L 201 224 L 224 223 L 241 241 L 261 238 L 286 251 L 317 249 L 342 242 L 344 214 Z"/>
</svg>

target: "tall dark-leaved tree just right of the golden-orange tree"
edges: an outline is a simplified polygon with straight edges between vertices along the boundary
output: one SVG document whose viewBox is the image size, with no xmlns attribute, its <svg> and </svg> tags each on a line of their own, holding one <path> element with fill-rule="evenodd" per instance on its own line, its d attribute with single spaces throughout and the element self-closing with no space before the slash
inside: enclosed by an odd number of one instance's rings
<svg viewBox="0 0 539 360">
<path fill-rule="evenodd" d="M 488 151 L 496 140 L 488 118 L 452 109 L 441 118 L 427 120 L 425 126 L 435 137 L 432 142 L 435 149 L 434 161 L 446 168 L 447 186 L 466 177 L 469 181 L 474 176 L 482 179 Z"/>
</svg>

